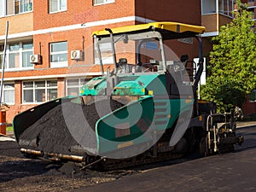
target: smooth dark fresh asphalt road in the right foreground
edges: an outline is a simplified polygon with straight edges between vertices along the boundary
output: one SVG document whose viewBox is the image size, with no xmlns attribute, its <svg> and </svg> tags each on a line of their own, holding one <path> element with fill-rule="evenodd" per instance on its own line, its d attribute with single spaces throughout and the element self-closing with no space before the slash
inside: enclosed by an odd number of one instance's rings
<svg viewBox="0 0 256 192">
<path fill-rule="evenodd" d="M 239 129 L 236 152 L 159 166 L 76 192 L 256 191 L 256 126 Z"/>
</svg>

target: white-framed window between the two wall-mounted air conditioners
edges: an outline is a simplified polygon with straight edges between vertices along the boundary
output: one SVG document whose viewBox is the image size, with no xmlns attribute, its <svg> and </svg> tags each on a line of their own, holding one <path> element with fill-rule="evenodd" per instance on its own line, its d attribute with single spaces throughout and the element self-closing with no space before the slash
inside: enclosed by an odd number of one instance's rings
<svg viewBox="0 0 256 192">
<path fill-rule="evenodd" d="M 67 42 L 49 44 L 50 67 L 67 67 Z"/>
</svg>

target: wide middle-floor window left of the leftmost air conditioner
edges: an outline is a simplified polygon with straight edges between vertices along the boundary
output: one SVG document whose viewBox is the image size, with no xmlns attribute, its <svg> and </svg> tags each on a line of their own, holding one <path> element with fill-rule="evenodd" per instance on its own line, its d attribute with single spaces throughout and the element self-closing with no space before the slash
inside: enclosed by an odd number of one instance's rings
<svg viewBox="0 0 256 192">
<path fill-rule="evenodd" d="M 3 68 L 3 49 L 4 46 L 0 45 L 1 69 Z M 32 68 L 33 65 L 29 60 L 29 56 L 33 53 L 32 49 L 32 41 L 7 44 L 5 68 L 7 70 Z"/>
</svg>

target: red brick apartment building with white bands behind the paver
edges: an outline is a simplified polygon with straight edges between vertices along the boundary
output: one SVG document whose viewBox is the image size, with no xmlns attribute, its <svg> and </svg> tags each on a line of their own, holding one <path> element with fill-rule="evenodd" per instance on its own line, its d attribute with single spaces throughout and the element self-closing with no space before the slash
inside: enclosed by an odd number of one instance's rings
<svg viewBox="0 0 256 192">
<path fill-rule="evenodd" d="M 212 49 L 212 36 L 232 19 L 234 4 L 235 0 L 0 1 L 2 66 L 4 26 L 9 20 L 3 82 L 3 102 L 10 106 L 7 121 L 10 123 L 15 114 L 42 102 L 78 95 L 84 82 L 100 75 L 92 32 L 165 20 L 202 25 L 207 27 L 207 55 Z"/>
</svg>

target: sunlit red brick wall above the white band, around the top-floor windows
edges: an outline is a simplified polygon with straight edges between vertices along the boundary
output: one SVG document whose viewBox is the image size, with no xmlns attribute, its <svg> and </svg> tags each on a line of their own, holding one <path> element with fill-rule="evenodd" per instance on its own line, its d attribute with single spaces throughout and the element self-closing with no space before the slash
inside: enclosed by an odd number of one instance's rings
<svg viewBox="0 0 256 192">
<path fill-rule="evenodd" d="M 93 1 L 67 1 L 67 11 L 49 14 L 48 1 L 34 1 L 34 29 L 108 20 L 134 15 L 133 0 L 93 6 Z"/>
</svg>

